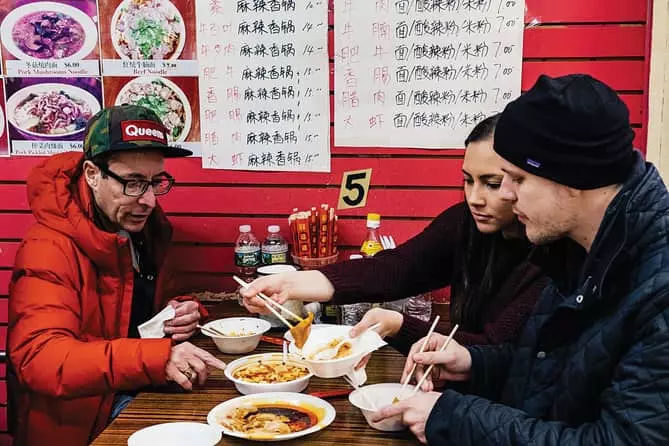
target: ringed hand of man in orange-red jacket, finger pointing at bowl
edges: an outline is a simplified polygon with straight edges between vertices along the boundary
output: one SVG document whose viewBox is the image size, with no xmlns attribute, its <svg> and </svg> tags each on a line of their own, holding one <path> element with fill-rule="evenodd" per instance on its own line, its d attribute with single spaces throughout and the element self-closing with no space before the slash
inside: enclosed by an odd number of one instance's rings
<svg viewBox="0 0 669 446">
<path fill-rule="evenodd" d="M 209 376 L 209 367 L 225 369 L 225 363 L 210 353 L 184 342 L 172 347 L 165 366 L 168 381 L 174 381 L 186 390 L 193 390 L 193 383 L 203 385 Z"/>
</svg>

